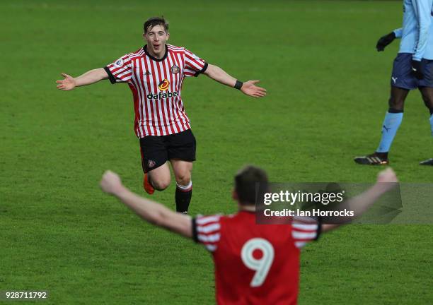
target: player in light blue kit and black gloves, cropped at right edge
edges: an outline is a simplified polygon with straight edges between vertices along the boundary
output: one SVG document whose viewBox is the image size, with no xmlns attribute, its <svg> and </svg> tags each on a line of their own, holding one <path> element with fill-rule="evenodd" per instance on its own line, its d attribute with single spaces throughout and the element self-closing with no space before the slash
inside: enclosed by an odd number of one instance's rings
<svg viewBox="0 0 433 305">
<path fill-rule="evenodd" d="M 391 75 L 389 108 L 382 124 L 382 136 L 376 152 L 354 161 L 362 165 L 388 165 L 388 152 L 403 120 L 403 107 L 408 92 L 418 88 L 429 109 L 433 135 L 433 24 L 432 0 L 404 0 L 403 28 L 379 39 L 378 51 L 401 37 L 400 50 L 394 60 Z M 433 159 L 420 162 L 433 165 Z"/>
</svg>

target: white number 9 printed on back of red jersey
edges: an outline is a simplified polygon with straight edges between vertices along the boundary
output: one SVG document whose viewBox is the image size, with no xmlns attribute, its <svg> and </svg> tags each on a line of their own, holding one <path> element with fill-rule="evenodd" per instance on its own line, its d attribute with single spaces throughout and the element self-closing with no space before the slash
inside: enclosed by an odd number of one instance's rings
<svg viewBox="0 0 433 305">
<path fill-rule="evenodd" d="M 262 251 L 261 258 L 254 258 L 253 252 L 255 250 Z M 250 286 L 259 287 L 265 282 L 267 273 L 269 273 L 272 262 L 274 261 L 274 248 L 266 239 L 250 239 L 242 247 L 241 258 L 248 268 L 255 270 Z"/>
</svg>

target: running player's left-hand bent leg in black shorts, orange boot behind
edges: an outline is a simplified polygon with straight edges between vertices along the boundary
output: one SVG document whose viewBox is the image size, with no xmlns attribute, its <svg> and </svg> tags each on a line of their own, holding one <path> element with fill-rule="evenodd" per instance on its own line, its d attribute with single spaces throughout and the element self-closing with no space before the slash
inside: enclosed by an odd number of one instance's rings
<svg viewBox="0 0 433 305">
<path fill-rule="evenodd" d="M 163 136 L 146 136 L 140 139 L 144 190 L 152 194 L 154 190 L 163 191 L 170 185 L 168 153 Z"/>
</svg>

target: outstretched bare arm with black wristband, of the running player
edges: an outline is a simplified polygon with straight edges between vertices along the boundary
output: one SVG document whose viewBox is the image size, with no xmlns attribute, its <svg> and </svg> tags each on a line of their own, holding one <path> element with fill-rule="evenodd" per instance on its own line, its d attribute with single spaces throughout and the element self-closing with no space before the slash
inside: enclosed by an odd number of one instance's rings
<svg viewBox="0 0 433 305">
<path fill-rule="evenodd" d="M 236 78 L 233 78 L 233 76 L 230 76 L 226 71 L 219 68 L 219 66 L 214 66 L 212 64 L 208 64 L 206 71 L 204 71 L 204 74 L 209 76 L 209 78 L 212 78 L 213 80 L 217 80 L 217 82 L 228 85 L 229 87 L 235 88 Z M 264 97 L 266 95 L 266 89 L 256 86 L 255 84 L 258 83 L 259 80 L 248 80 L 245 83 L 238 82 L 238 88 L 241 90 L 245 95 L 248 95 L 250 97 Z"/>
</svg>

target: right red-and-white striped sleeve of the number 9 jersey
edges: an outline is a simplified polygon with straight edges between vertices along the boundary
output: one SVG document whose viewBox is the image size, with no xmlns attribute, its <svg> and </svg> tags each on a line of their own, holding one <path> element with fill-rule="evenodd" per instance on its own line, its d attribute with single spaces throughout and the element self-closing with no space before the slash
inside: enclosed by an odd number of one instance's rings
<svg viewBox="0 0 433 305">
<path fill-rule="evenodd" d="M 296 248 L 301 249 L 308 242 L 317 240 L 321 234 L 321 222 L 312 217 L 294 217 L 291 223 L 291 237 Z"/>
</svg>

